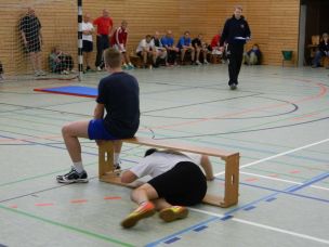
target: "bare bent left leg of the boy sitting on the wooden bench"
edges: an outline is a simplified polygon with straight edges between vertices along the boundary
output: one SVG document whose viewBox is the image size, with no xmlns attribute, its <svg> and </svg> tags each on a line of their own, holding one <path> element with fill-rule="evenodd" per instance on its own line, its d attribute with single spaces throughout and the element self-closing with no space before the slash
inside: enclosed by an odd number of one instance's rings
<svg viewBox="0 0 329 247">
<path fill-rule="evenodd" d="M 88 139 L 89 121 L 70 122 L 62 128 L 62 135 L 73 162 L 80 162 L 81 145 L 78 138 Z"/>
</svg>

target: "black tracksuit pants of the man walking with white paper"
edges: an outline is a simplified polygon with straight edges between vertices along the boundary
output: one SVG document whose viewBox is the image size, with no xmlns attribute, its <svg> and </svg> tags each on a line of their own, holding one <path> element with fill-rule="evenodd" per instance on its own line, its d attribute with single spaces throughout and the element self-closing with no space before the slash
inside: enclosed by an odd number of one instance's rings
<svg viewBox="0 0 329 247">
<path fill-rule="evenodd" d="M 228 64 L 228 84 L 238 84 L 238 76 L 240 73 L 242 57 L 244 57 L 244 43 L 229 43 L 227 47 Z"/>
</svg>

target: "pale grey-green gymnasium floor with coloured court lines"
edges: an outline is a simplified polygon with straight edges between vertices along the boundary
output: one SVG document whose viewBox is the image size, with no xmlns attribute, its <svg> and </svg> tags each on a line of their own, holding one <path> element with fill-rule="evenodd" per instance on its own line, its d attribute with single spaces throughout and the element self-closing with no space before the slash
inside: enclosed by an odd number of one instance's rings
<svg viewBox="0 0 329 247">
<path fill-rule="evenodd" d="M 163 223 L 154 216 L 131 230 L 130 190 L 100 182 L 97 147 L 83 140 L 88 184 L 63 185 L 70 159 L 61 136 L 68 121 L 89 119 L 94 100 L 34 92 L 96 88 L 105 73 L 76 80 L 0 83 L 0 246 L 328 246 L 329 72 L 244 66 L 238 90 L 227 66 L 136 69 L 137 135 L 239 152 L 239 204 L 200 205 Z M 31 78 L 31 77 L 30 77 Z M 124 169 L 144 147 L 123 146 Z M 209 191 L 223 194 L 221 160 Z"/>
</svg>

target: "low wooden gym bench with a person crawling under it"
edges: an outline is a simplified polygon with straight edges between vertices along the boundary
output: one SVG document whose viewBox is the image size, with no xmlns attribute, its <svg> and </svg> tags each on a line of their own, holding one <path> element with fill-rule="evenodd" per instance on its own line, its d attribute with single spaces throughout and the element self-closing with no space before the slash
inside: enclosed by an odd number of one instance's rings
<svg viewBox="0 0 329 247">
<path fill-rule="evenodd" d="M 180 152 L 189 152 L 195 154 L 220 157 L 225 161 L 225 188 L 224 196 L 215 196 L 207 194 L 203 198 L 205 204 L 227 208 L 238 203 L 238 186 L 239 186 L 239 153 L 227 153 L 221 150 L 211 147 L 197 147 L 185 144 L 169 143 L 161 140 L 154 140 L 147 138 L 132 138 L 121 140 L 126 143 L 146 145 L 152 147 L 170 148 Z M 100 147 L 98 155 L 98 172 L 100 180 L 113 184 L 130 186 L 121 183 L 120 177 L 114 172 L 114 148 L 113 142 L 103 142 Z"/>
</svg>

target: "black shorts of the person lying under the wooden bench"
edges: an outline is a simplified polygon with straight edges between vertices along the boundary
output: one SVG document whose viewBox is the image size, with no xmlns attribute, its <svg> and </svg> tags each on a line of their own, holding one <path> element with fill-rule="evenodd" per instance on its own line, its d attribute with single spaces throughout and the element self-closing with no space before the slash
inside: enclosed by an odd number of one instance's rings
<svg viewBox="0 0 329 247">
<path fill-rule="evenodd" d="M 158 193 L 171 205 L 193 206 L 202 202 L 207 193 L 207 180 L 194 162 L 184 161 L 171 170 L 149 180 Z"/>
</svg>

